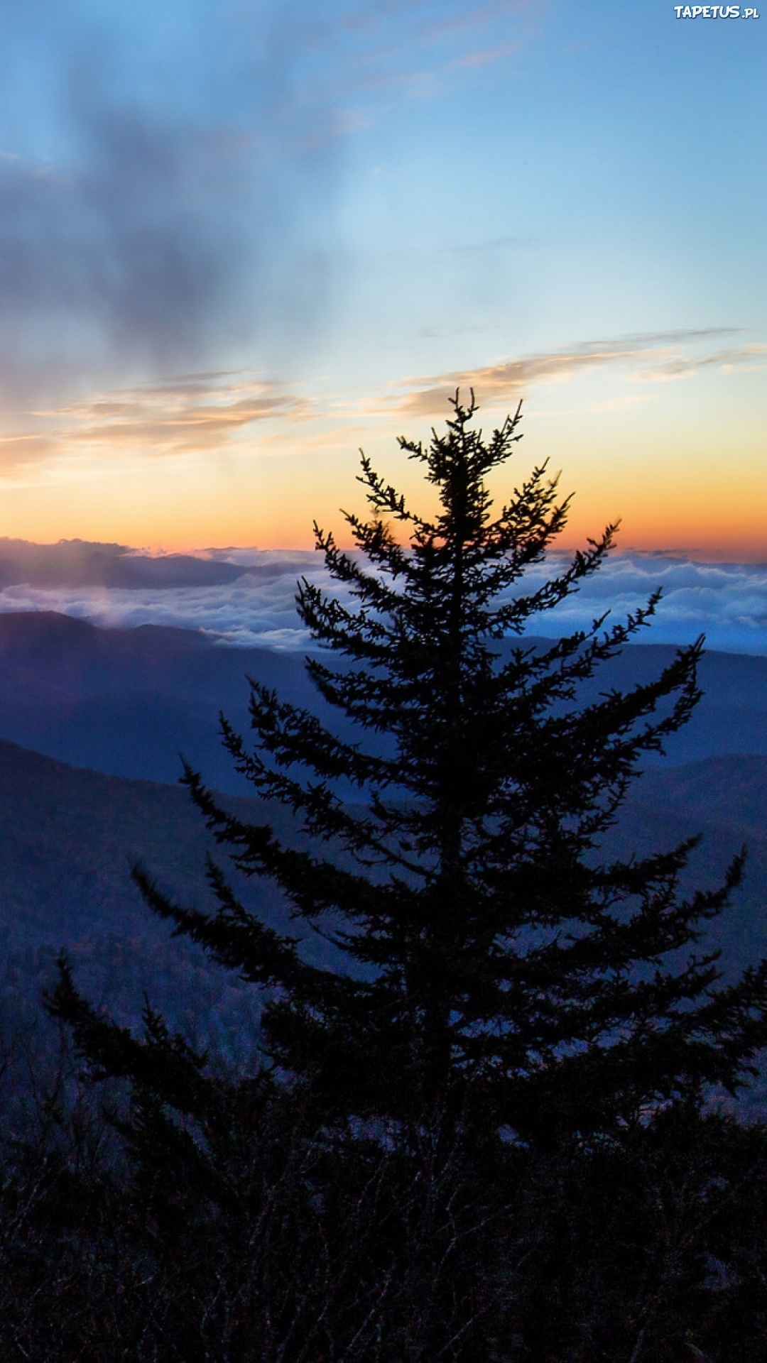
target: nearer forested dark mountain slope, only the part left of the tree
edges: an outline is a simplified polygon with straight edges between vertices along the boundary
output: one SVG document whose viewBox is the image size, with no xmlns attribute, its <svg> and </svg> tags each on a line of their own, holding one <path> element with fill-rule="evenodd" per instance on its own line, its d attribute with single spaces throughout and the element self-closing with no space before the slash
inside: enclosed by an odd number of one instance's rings
<svg viewBox="0 0 767 1363">
<path fill-rule="evenodd" d="M 231 807 L 285 831 L 281 811 L 258 800 Z M 67 950 L 78 979 L 123 1022 L 136 1024 L 143 992 L 169 1021 L 235 1055 L 252 1047 L 252 988 L 172 938 L 131 882 L 136 860 L 182 902 L 205 906 L 206 852 L 216 852 L 187 792 L 124 781 L 0 741 L 0 1032 L 40 1015 L 40 998 Z M 289 931 L 269 883 L 233 875 L 244 902 Z M 326 957 L 323 942 L 315 960 Z"/>
</svg>

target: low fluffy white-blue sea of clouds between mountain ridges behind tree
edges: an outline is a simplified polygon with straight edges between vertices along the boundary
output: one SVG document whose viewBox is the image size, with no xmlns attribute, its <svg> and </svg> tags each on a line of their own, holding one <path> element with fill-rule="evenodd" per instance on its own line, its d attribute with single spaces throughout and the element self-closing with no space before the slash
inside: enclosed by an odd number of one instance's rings
<svg viewBox="0 0 767 1363">
<path fill-rule="evenodd" d="M 120 545 L 109 549 L 115 556 L 131 552 Z M 70 559 L 63 547 L 61 564 Z M 210 566 L 212 578 L 222 563 L 239 567 L 242 574 L 229 582 L 206 582 L 203 574 L 194 586 L 167 586 L 165 557 L 154 560 L 165 568 L 165 577 L 157 574 L 156 585 L 149 571 L 147 585 L 127 589 L 78 583 L 68 568 L 56 571 L 52 564 L 44 581 L 37 574 L 34 585 L 18 581 L 5 585 L 0 590 L 0 612 L 59 611 L 113 628 L 157 624 L 202 630 L 221 646 L 306 650 L 311 639 L 296 615 L 298 579 L 306 577 L 345 597 L 330 581 L 321 556 L 313 552 L 207 549 L 198 559 Z M 547 566 L 527 572 L 524 590 L 534 589 L 562 566 L 564 556 L 553 555 Z M 146 567 L 150 570 L 151 563 Z M 688 643 L 704 634 L 710 649 L 767 654 L 767 564 L 614 555 L 555 611 L 531 622 L 531 631 L 555 637 L 590 626 L 607 611 L 613 620 L 620 620 L 636 611 L 655 587 L 662 589 L 663 598 L 652 624 L 641 632 L 641 642 Z"/>
</svg>

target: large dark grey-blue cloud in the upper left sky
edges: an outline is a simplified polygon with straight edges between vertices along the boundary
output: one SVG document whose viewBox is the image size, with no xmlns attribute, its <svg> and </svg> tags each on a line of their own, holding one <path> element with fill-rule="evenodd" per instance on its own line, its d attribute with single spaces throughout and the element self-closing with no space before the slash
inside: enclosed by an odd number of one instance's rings
<svg viewBox="0 0 767 1363">
<path fill-rule="evenodd" d="M 72 0 L 59 25 L 29 0 L 4 33 L 0 79 L 29 116 L 0 158 L 14 405 L 243 341 L 300 345 L 322 308 L 337 139 L 318 136 L 332 110 L 293 98 L 306 44 L 285 42 L 280 7 L 251 7 L 246 41 L 212 0 L 100 11 Z"/>
</svg>

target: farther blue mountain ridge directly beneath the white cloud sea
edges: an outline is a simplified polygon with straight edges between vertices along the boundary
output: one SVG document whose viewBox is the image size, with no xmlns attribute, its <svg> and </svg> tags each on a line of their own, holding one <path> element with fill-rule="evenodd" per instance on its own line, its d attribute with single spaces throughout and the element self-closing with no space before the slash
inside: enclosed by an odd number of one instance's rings
<svg viewBox="0 0 767 1363">
<path fill-rule="evenodd" d="M 673 656 L 666 645 L 633 645 L 584 696 L 648 680 Z M 0 737 L 113 776 L 172 782 L 183 751 L 212 785 L 247 793 L 218 737 L 220 710 L 247 731 L 247 676 L 359 737 L 319 701 L 300 656 L 227 647 L 194 630 L 104 630 L 53 612 L 0 615 Z M 667 759 L 767 755 L 767 658 L 708 653 L 700 682 L 704 699 L 670 740 Z"/>
</svg>

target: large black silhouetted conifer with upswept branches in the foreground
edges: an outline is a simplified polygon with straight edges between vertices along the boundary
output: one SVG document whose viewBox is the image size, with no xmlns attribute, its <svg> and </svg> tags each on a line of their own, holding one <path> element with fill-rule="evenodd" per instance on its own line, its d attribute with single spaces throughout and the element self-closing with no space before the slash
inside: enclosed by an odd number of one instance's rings
<svg viewBox="0 0 767 1363">
<path fill-rule="evenodd" d="M 628 860 L 600 852 L 643 758 L 691 716 L 700 642 L 650 684 L 585 694 L 652 616 L 655 594 L 625 623 L 602 617 L 509 650 L 509 637 L 598 571 L 614 527 L 525 593 L 568 500 L 543 466 L 493 515 L 486 480 L 520 439 L 520 412 L 487 442 L 474 412 L 474 398 L 467 408 L 456 397 L 445 435 L 427 448 L 400 442 L 437 491 L 433 519 L 363 457 L 373 514 L 345 514 L 356 552 L 315 527 L 351 604 L 300 583 L 299 615 L 325 650 L 307 669 L 359 741 L 258 682 L 254 744 L 222 721 L 237 770 L 289 807 L 308 841 L 243 822 L 187 770 L 221 848 L 292 905 L 296 938 L 246 908 L 221 866 L 210 866 L 216 913 L 138 879 L 177 932 L 265 987 L 265 1055 L 308 1085 L 325 1119 L 414 1130 L 439 1112 L 453 1131 L 547 1141 L 616 1130 L 708 1084 L 737 1088 L 767 1040 L 767 966 L 723 984 L 717 954 L 696 950 L 740 859 L 721 889 L 685 897 L 693 840 Z M 333 667 L 330 652 L 347 664 Z M 330 938 L 334 965 L 306 958 L 307 928 Z M 120 1033 L 68 976 L 53 1009 L 101 1073 L 165 1085 L 182 1107 L 184 1086 L 201 1082 L 191 1054 L 157 1028 L 143 1043 Z"/>
</svg>

